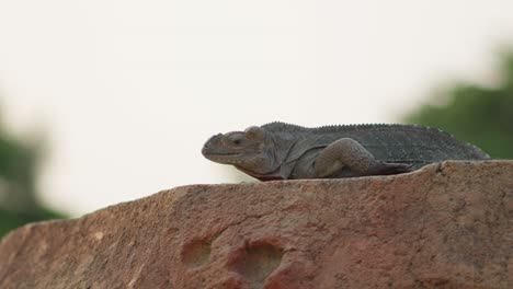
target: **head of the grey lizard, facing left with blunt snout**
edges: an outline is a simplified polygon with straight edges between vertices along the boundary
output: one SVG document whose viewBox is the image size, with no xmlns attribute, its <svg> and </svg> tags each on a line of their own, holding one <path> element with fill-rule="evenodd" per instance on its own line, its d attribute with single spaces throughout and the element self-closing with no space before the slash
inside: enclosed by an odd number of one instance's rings
<svg viewBox="0 0 513 289">
<path fill-rule="evenodd" d="M 249 127 L 213 136 L 202 153 L 210 161 L 231 164 L 248 173 L 266 174 L 276 169 L 273 140 L 264 128 Z"/>
</svg>

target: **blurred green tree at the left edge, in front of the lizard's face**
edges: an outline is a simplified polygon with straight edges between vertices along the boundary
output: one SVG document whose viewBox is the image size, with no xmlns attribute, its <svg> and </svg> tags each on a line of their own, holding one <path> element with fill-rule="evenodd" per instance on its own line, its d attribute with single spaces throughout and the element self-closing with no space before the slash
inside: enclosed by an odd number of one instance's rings
<svg viewBox="0 0 513 289">
<path fill-rule="evenodd" d="M 0 125 L 0 238 L 27 222 L 64 218 L 37 200 L 41 147 L 35 143 Z"/>
</svg>

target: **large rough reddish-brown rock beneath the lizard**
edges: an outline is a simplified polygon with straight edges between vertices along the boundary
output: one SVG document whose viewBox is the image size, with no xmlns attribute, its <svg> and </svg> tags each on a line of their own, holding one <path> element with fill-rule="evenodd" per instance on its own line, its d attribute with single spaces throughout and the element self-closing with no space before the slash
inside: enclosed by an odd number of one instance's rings
<svg viewBox="0 0 513 289">
<path fill-rule="evenodd" d="M 0 243 L 0 288 L 513 288 L 513 162 L 178 187 Z"/>
</svg>

